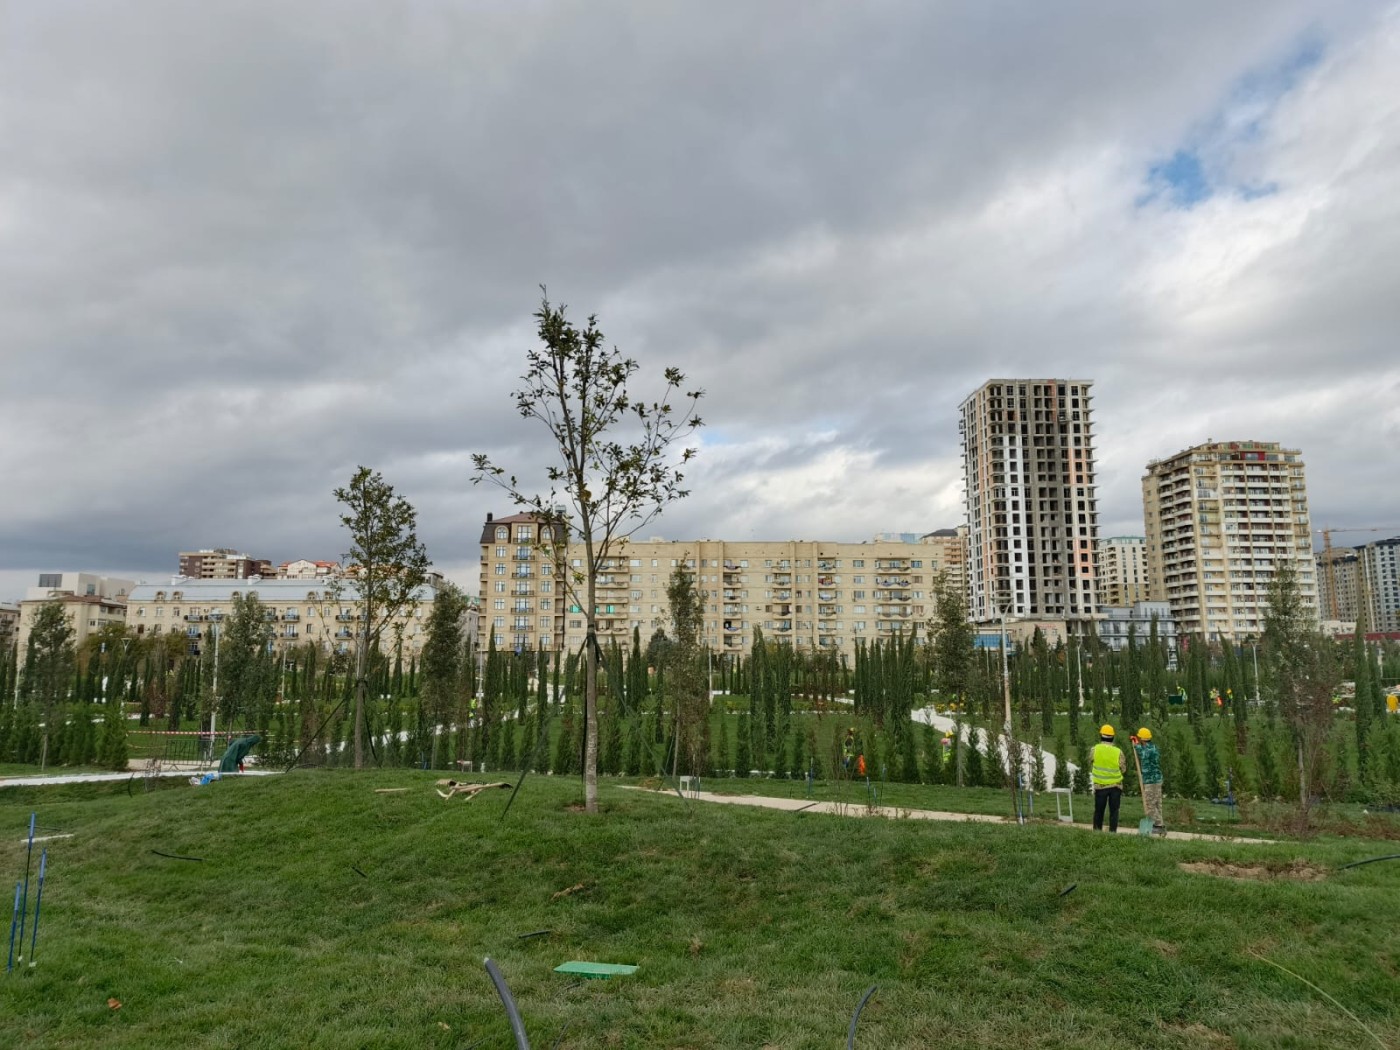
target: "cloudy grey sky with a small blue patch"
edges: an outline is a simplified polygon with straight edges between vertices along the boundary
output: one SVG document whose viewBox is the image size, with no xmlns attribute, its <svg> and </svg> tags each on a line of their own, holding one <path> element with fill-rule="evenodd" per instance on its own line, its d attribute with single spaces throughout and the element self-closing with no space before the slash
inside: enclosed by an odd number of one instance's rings
<svg viewBox="0 0 1400 1050">
<path fill-rule="evenodd" d="M 339 557 L 357 465 L 475 592 L 540 286 L 706 392 L 643 538 L 953 526 L 994 377 L 1093 381 L 1103 536 L 1207 440 L 1400 535 L 1397 186 L 1396 3 L 8 0 L 0 599 Z"/>
</svg>

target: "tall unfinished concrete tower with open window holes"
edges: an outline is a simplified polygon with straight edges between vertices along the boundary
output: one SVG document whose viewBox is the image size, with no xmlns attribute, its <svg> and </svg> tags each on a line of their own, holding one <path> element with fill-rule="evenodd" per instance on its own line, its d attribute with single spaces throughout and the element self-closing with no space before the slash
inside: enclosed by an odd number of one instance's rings
<svg viewBox="0 0 1400 1050">
<path fill-rule="evenodd" d="M 990 379 L 962 403 L 967 594 L 1002 615 L 1092 631 L 1099 510 L 1092 382 Z"/>
</svg>

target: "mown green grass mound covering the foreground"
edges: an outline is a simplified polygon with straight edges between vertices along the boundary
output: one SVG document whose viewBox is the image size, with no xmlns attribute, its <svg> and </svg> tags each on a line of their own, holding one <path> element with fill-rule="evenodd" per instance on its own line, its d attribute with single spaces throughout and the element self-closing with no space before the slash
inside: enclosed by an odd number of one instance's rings
<svg viewBox="0 0 1400 1050">
<path fill-rule="evenodd" d="M 435 776 L 6 790 L 7 876 L 32 809 L 74 837 L 50 843 L 38 966 L 0 976 L 0 1044 L 507 1049 L 486 955 L 536 1047 L 566 1026 L 561 1049 L 844 1046 L 871 984 L 858 1047 L 1369 1043 L 1250 951 L 1400 1042 L 1400 862 L 1320 882 L 1177 867 L 1331 869 L 1393 843 L 792 815 L 612 780 L 589 816 L 577 781 L 552 777 L 503 822 L 507 792 L 442 802 Z M 553 973 L 570 959 L 640 969 Z"/>
</svg>

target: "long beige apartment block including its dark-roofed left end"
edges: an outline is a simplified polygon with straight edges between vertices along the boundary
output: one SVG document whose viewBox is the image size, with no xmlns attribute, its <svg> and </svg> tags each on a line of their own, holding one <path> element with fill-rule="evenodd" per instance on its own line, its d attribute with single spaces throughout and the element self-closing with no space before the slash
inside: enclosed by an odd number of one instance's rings
<svg viewBox="0 0 1400 1050">
<path fill-rule="evenodd" d="M 578 651 L 587 573 L 581 543 L 559 559 L 540 546 L 531 515 L 487 518 L 482 532 L 482 620 L 477 647 Z M 825 540 L 627 540 L 599 573 L 598 638 L 645 644 L 671 633 L 666 587 L 678 568 L 703 602 L 701 644 L 748 654 L 755 631 L 795 648 L 854 659 L 858 643 L 909 634 L 934 615 L 941 574 L 951 581 L 960 540 L 935 533 L 867 543 Z M 574 582 L 578 580 L 580 582 Z"/>
</svg>

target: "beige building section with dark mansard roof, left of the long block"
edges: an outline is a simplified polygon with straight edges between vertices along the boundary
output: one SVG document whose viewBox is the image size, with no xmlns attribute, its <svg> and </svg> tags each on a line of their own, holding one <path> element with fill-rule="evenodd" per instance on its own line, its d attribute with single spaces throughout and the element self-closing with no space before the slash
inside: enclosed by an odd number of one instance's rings
<svg viewBox="0 0 1400 1050">
<path fill-rule="evenodd" d="M 531 514 L 486 515 L 482 528 L 482 622 L 477 648 L 557 650 L 564 645 L 561 525 Z"/>
</svg>

